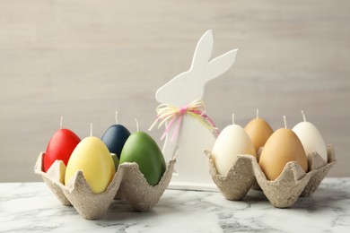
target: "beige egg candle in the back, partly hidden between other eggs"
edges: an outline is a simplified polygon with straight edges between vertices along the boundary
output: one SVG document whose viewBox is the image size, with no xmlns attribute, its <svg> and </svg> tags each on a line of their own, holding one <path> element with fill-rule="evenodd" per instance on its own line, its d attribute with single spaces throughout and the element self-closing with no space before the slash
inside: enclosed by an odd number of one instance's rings
<svg viewBox="0 0 350 233">
<path fill-rule="evenodd" d="M 255 151 L 258 152 L 258 149 L 265 145 L 267 139 L 274 133 L 274 130 L 267 123 L 266 120 L 258 116 L 249 121 L 249 123 L 244 127 L 244 130 L 249 135 L 251 142 L 253 142 Z"/>
</svg>

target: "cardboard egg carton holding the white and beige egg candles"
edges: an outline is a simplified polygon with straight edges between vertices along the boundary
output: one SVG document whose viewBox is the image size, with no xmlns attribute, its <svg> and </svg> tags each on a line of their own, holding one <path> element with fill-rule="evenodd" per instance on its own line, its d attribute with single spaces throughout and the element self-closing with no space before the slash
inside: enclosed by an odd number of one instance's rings
<svg viewBox="0 0 350 233">
<path fill-rule="evenodd" d="M 307 173 L 297 162 L 292 161 L 285 165 L 276 180 L 270 181 L 258 165 L 258 160 L 252 155 L 237 155 L 226 176 L 217 173 L 211 151 L 206 151 L 206 156 L 210 175 L 226 199 L 241 200 L 250 187 L 257 183 L 268 201 L 278 208 L 290 207 L 299 196 L 313 194 L 336 163 L 333 146 L 329 144 L 327 162 L 317 152 L 313 152 L 307 155 Z"/>
</svg>

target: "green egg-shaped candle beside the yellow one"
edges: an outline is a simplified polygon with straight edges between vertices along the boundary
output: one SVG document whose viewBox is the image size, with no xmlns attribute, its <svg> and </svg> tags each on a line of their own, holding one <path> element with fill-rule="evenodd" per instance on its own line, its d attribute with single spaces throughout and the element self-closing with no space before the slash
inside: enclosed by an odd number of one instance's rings
<svg viewBox="0 0 350 233">
<path fill-rule="evenodd" d="M 161 149 L 150 135 L 142 131 L 127 138 L 120 155 L 120 164 L 124 162 L 136 162 L 151 186 L 159 183 L 166 169 Z"/>
</svg>

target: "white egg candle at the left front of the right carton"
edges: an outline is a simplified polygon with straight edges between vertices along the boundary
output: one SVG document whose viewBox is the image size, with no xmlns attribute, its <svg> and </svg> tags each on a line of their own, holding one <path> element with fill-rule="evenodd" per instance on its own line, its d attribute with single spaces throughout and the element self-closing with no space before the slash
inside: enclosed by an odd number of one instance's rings
<svg viewBox="0 0 350 233">
<path fill-rule="evenodd" d="M 212 155 L 216 171 L 220 175 L 226 175 L 239 154 L 257 156 L 249 135 L 241 125 L 234 124 L 232 115 L 232 125 L 226 126 L 214 142 Z"/>
</svg>

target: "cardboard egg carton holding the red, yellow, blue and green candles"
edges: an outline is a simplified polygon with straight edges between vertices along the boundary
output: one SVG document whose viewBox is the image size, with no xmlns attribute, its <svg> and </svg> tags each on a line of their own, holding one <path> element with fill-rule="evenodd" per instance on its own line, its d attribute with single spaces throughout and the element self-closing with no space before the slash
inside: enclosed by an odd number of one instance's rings
<svg viewBox="0 0 350 233">
<path fill-rule="evenodd" d="M 66 165 L 61 160 L 56 160 L 48 168 L 48 171 L 44 172 L 44 156 L 45 152 L 39 154 L 34 172 L 43 178 L 62 204 L 73 205 L 75 210 L 87 220 L 101 218 L 108 210 L 113 199 L 121 196 L 127 200 L 127 203 L 135 211 L 151 210 L 168 187 L 176 162 L 175 158 L 170 160 L 156 186 L 150 186 L 147 183 L 144 174 L 141 173 L 136 163 L 122 163 L 106 191 L 95 194 L 83 177 L 82 170 L 78 170 L 65 186 Z"/>
</svg>

